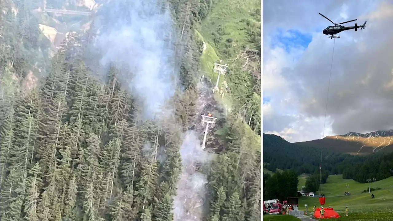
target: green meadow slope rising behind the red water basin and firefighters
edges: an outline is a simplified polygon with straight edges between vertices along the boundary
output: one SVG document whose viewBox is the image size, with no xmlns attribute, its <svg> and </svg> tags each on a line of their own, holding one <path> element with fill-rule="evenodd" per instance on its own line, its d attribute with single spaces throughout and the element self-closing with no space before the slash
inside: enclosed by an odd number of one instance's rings
<svg viewBox="0 0 393 221">
<path fill-rule="evenodd" d="M 349 184 L 349 188 L 346 188 Z M 342 179 L 342 175 L 331 175 L 327 179 L 326 184 L 322 184 L 322 193 L 327 196 L 324 206 L 331 206 L 335 210 L 345 210 L 347 205 L 352 212 L 373 212 L 381 211 L 386 213 L 391 211 L 393 207 L 393 177 L 370 183 L 370 187 L 382 188 L 372 193 L 375 199 L 371 199 L 371 194 L 362 193 L 368 190 L 368 184 L 361 184 L 353 180 Z M 344 196 L 344 192 L 350 192 L 350 196 Z M 304 210 L 304 204 L 312 206 L 320 206 L 318 197 L 300 197 L 299 210 Z M 382 215 L 382 213 L 380 213 Z M 393 217 L 393 214 L 392 214 Z"/>
</svg>

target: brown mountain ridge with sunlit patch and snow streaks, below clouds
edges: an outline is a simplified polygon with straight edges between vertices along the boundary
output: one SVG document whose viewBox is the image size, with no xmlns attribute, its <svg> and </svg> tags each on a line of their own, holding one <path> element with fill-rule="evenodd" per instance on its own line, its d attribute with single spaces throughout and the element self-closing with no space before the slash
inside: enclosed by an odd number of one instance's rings
<svg viewBox="0 0 393 221">
<path fill-rule="evenodd" d="M 393 151 L 393 130 L 374 131 L 366 134 L 350 132 L 344 135 L 327 136 L 320 140 L 294 143 L 301 146 L 322 147 L 338 153 L 368 155 Z"/>
</svg>

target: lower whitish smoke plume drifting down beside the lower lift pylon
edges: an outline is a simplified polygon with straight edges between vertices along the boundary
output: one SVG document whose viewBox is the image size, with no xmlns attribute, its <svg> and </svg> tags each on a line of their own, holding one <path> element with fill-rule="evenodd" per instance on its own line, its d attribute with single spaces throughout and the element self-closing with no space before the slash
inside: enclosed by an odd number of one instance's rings
<svg viewBox="0 0 393 221">
<path fill-rule="evenodd" d="M 200 141 L 195 131 L 184 134 L 180 148 L 183 169 L 177 183 L 177 195 L 174 198 L 174 221 L 201 221 L 206 203 L 207 175 L 196 171 L 195 166 L 206 166 L 213 154 L 201 149 Z"/>
</svg>

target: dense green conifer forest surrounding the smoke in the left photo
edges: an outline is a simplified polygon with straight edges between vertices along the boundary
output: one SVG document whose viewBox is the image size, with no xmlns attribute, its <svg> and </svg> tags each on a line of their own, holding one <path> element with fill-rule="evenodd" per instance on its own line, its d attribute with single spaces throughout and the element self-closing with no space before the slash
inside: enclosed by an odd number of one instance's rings
<svg viewBox="0 0 393 221">
<path fill-rule="evenodd" d="M 31 13 L 37 2 L 0 2 L 7 9 L 0 12 L 0 219 L 184 220 L 195 208 L 177 218 L 173 212 L 184 188 L 179 180 L 189 169 L 182 148 L 189 131 L 195 130 L 198 139 L 203 136 L 198 114 L 204 113 L 197 107 L 203 42 L 194 28 L 214 2 L 169 2 L 179 83 L 160 111 L 148 114 L 149 100 L 130 90 L 133 78 L 124 78 L 135 73 L 122 61 L 99 65 L 103 52 L 94 39 L 97 29 L 108 28 L 110 22 L 95 24 L 92 19 L 86 32 L 68 33 L 50 58 L 50 42 Z M 52 3 L 55 7 L 59 1 Z M 120 7 L 127 16 L 130 5 Z M 103 6 L 97 17 L 121 14 L 110 8 Z M 260 59 L 260 39 L 253 38 L 252 50 L 259 50 Z M 241 90 L 247 70 L 233 68 L 231 73 L 234 97 L 258 100 L 260 82 L 250 75 L 254 85 Z M 39 81 L 32 83 L 29 75 Z M 234 107 L 241 108 L 243 101 Z M 207 177 L 199 220 L 261 219 L 261 122 L 256 103 L 251 104 L 242 107 L 252 107 L 251 113 L 219 115 L 220 128 L 208 135 L 211 160 L 191 172 Z M 244 114 L 251 116 L 246 123 Z"/>
</svg>

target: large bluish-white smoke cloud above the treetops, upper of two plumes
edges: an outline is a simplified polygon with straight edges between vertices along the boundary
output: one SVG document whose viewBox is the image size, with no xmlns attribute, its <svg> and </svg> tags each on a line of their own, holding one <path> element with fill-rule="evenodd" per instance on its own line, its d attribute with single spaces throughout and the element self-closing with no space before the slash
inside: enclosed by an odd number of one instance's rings
<svg viewBox="0 0 393 221">
<path fill-rule="evenodd" d="M 129 84 L 152 117 L 173 95 L 178 78 L 170 9 L 157 0 L 112 0 L 101 6 L 97 18 L 103 24 L 95 42 L 103 53 L 101 64 L 126 66 L 121 83 Z"/>
</svg>

